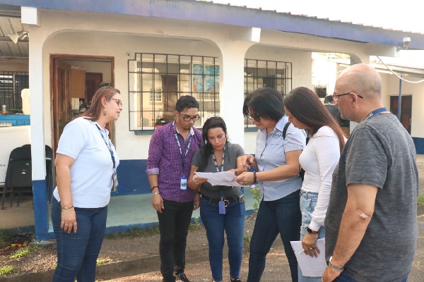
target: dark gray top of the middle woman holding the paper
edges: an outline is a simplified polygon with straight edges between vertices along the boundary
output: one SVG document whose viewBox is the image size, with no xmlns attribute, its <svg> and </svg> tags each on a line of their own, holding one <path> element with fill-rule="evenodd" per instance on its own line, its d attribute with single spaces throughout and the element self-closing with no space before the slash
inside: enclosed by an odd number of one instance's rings
<svg viewBox="0 0 424 282">
<path fill-rule="evenodd" d="M 237 157 L 244 154 L 245 151 L 240 145 L 227 142 L 227 149 L 225 149 L 224 156 L 224 171 L 237 168 Z M 201 163 L 200 159 L 201 153 L 200 149 L 198 149 L 192 159 L 192 165 L 199 167 Z M 206 167 L 202 170 L 202 172 L 216 172 L 216 166 L 213 164 L 212 155 L 209 155 Z M 232 186 L 212 186 L 211 183 L 208 182 L 202 183 L 201 185 L 202 195 L 210 197 L 211 199 L 219 199 L 220 190 L 223 190 L 224 197 L 240 196 L 242 194 L 240 189 L 240 187 Z"/>
</svg>

